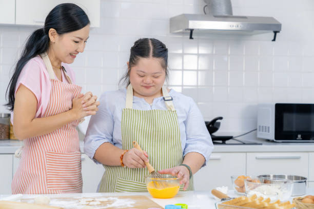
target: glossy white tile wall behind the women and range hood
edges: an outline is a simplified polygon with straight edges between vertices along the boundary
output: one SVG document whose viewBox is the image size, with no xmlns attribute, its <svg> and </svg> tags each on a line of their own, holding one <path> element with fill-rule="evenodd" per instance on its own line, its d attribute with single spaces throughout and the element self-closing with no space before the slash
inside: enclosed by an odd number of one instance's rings
<svg viewBox="0 0 314 209">
<path fill-rule="evenodd" d="M 102 0 L 101 27 L 90 32 L 85 52 L 72 64 L 84 91 L 115 90 L 129 49 L 156 37 L 169 49 L 169 84 L 191 96 L 205 118 L 223 116 L 222 131 L 256 126 L 258 102 L 314 102 L 314 1 L 231 0 L 234 15 L 273 16 L 283 25 L 253 36 L 169 33 L 169 17 L 202 13 L 202 0 Z M 0 26 L 0 104 L 12 65 L 35 27 Z M 4 106 L 0 112 L 7 112 Z"/>
</svg>

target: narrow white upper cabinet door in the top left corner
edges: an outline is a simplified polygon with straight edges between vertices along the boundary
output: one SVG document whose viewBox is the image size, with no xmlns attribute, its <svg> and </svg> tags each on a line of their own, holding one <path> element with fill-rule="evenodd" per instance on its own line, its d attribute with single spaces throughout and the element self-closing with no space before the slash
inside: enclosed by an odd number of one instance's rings
<svg viewBox="0 0 314 209">
<path fill-rule="evenodd" d="M 15 1 L 0 0 L 0 24 L 15 23 Z"/>
</svg>

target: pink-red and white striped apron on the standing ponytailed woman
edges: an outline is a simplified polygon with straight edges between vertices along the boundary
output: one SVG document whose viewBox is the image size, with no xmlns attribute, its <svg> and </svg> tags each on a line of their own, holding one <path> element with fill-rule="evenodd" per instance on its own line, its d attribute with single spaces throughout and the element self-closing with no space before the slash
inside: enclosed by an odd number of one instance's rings
<svg viewBox="0 0 314 209">
<path fill-rule="evenodd" d="M 47 110 L 42 117 L 60 114 L 72 108 L 72 99 L 82 87 L 55 78 L 48 55 L 45 61 L 51 81 Z M 82 193 L 81 152 L 75 127 L 79 120 L 49 134 L 24 140 L 21 161 L 12 181 L 13 194 Z"/>
</svg>

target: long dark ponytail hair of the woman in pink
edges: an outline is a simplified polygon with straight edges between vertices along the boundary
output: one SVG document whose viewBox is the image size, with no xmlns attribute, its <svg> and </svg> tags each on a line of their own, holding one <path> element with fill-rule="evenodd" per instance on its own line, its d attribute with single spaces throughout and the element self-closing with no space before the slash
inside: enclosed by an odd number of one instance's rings
<svg viewBox="0 0 314 209">
<path fill-rule="evenodd" d="M 55 29 L 58 34 L 69 33 L 80 30 L 89 24 L 87 14 L 75 4 L 60 4 L 54 7 L 46 17 L 44 28 L 35 30 L 27 39 L 21 58 L 16 62 L 14 73 L 10 79 L 6 95 L 8 103 L 6 106 L 13 111 L 15 101 L 15 86 L 19 74 L 27 62 L 49 48 L 49 30 Z"/>
</svg>

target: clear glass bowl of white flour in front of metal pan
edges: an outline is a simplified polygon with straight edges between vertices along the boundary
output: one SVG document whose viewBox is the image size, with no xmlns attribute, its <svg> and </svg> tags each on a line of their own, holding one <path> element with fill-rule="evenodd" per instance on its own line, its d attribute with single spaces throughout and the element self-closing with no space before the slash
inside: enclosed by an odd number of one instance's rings
<svg viewBox="0 0 314 209">
<path fill-rule="evenodd" d="M 288 179 L 250 178 L 245 179 L 247 196 L 256 194 L 258 197 L 286 201 L 292 195 L 293 181 Z"/>
</svg>

